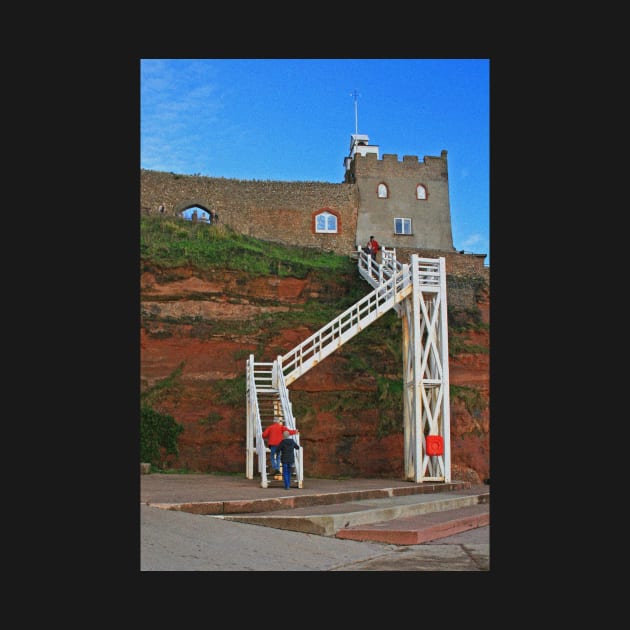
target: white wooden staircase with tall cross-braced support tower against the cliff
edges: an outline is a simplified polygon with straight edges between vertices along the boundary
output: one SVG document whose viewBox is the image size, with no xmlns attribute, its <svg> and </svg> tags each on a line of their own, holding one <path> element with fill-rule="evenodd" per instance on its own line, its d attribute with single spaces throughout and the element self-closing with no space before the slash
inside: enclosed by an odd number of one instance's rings
<svg viewBox="0 0 630 630">
<path fill-rule="evenodd" d="M 263 488 L 270 482 L 263 427 L 279 416 L 296 428 L 288 386 L 392 308 L 405 320 L 405 475 L 416 482 L 450 481 L 444 258 L 414 255 L 410 265 L 403 265 L 395 249 L 383 248 L 379 264 L 362 249 L 357 254 L 359 273 L 372 292 L 273 363 L 255 362 L 253 355 L 247 360 L 246 477 L 253 479 L 257 455 Z M 434 438 L 426 440 L 428 435 L 440 436 L 437 446 Z M 292 437 L 299 443 L 299 434 Z M 295 455 L 292 485 L 302 488 L 304 449 Z"/>
</svg>

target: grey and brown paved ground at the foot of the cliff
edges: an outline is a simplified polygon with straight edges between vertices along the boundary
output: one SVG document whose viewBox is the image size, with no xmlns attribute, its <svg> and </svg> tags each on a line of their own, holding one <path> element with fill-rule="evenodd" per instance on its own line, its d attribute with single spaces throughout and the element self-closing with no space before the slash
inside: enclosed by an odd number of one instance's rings
<svg viewBox="0 0 630 630">
<path fill-rule="evenodd" d="M 489 525 L 450 536 L 444 536 L 448 533 L 444 530 L 440 538 L 427 542 L 414 538 L 418 531 L 410 526 L 414 517 L 358 525 L 360 530 L 380 533 L 398 527 L 406 538 L 391 544 L 386 539 L 344 539 L 281 529 L 269 522 L 261 527 L 262 522 L 232 520 L 271 518 L 283 523 L 290 515 L 304 519 L 300 510 L 318 518 L 327 511 L 330 515 L 345 510 L 365 519 L 376 509 L 398 514 L 406 504 L 421 510 L 418 506 L 433 499 L 476 496 L 479 490 L 457 482 L 447 490 L 445 484 L 383 479 L 305 479 L 303 488 L 284 490 L 281 484 L 263 489 L 259 480 L 243 475 L 141 475 L 140 570 L 488 571 Z M 348 528 L 343 531 L 347 534 Z"/>
</svg>

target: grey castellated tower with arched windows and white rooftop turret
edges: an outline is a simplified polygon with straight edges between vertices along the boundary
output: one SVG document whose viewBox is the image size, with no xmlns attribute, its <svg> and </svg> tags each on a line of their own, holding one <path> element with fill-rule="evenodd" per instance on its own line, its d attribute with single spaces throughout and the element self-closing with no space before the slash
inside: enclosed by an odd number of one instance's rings
<svg viewBox="0 0 630 630">
<path fill-rule="evenodd" d="M 353 134 L 344 183 L 358 188 L 356 244 L 371 235 L 385 247 L 453 252 L 446 151 L 440 157 L 378 157 L 365 134 Z"/>
</svg>

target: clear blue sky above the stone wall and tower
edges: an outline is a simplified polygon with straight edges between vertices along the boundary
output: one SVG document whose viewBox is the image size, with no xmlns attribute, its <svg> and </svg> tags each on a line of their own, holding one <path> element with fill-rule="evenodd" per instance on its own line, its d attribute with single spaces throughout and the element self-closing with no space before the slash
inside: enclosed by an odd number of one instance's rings
<svg viewBox="0 0 630 630">
<path fill-rule="evenodd" d="M 357 131 L 381 158 L 446 149 L 453 245 L 490 264 L 489 59 L 140 61 L 144 169 L 338 184 Z"/>
</svg>

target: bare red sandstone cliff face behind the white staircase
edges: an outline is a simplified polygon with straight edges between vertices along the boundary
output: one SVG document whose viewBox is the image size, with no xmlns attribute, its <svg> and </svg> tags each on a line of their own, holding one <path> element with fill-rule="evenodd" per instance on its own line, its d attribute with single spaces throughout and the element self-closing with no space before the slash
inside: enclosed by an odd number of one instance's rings
<svg viewBox="0 0 630 630">
<path fill-rule="evenodd" d="M 356 282 L 363 281 L 357 278 Z M 370 288 L 364 284 L 367 293 Z M 160 403 L 160 410 L 184 427 L 178 441 L 179 455 L 168 459 L 169 467 L 244 472 L 245 390 L 243 387 L 240 399 L 226 396 L 221 386 L 244 379 L 249 354 L 257 361 L 271 361 L 314 332 L 294 323 L 270 337 L 262 327 L 252 329 L 251 322 L 261 315 L 294 311 L 323 294 L 342 295 L 344 290 L 342 284 L 323 286 L 309 278 L 248 280 L 237 272 L 222 270 L 212 274 L 191 268 L 143 273 L 143 390 L 183 365 L 179 389 Z M 488 292 L 477 305 L 482 321 L 489 323 Z M 369 328 L 380 325 L 378 320 Z M 374 336 L 379 335 L 377 330 Z M 381 336 L 384 339 L 386 333 Z M 346 345 L 354 343 L 352 340 Z M 467 343 L 488 348 L 489 334 L 468 333 Z M 379 363 L 372 365 L 371 371 L 357 373 L 343 350 L 290 387 L 304 447 L 305 476 L 401 478 L 402 418 L 388 417 L 383 411 L 375 377 L 378 371 L 395 377 L 401 366 L 387 347 L 375 345 L 364 353 L 370 355 L 365 360 Z M 485 403 L 471 413 L 464 401 L 451 398 L 452 478 L 479 483 L 490 476 L 489 354 L 459 354 L 451 358 L 449 370 L 451 385 L 477 391 Z"/>
</svg>

